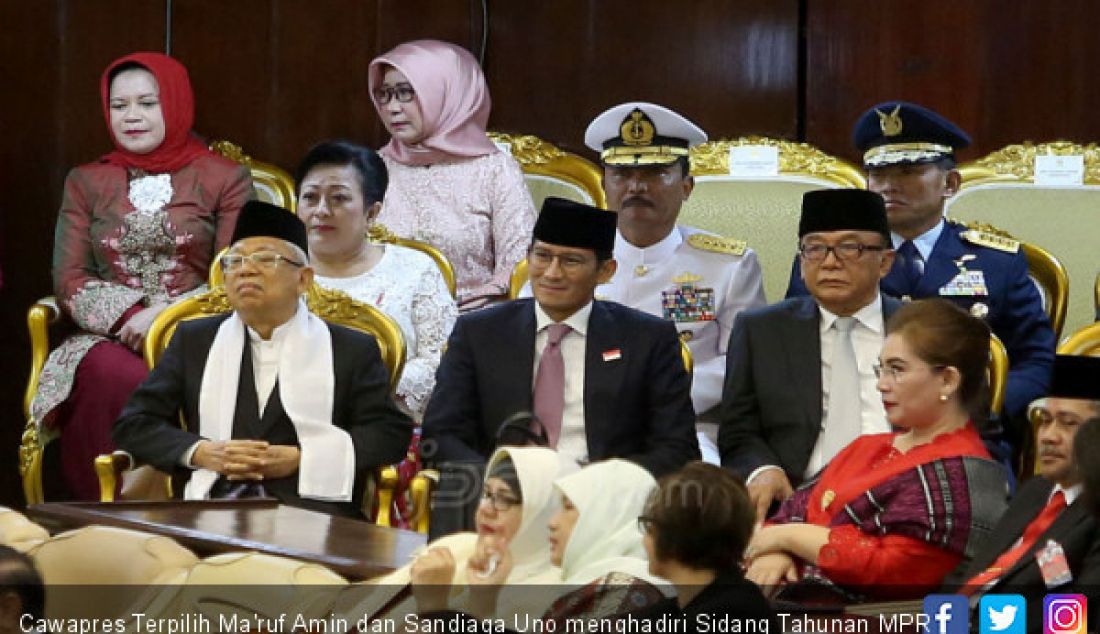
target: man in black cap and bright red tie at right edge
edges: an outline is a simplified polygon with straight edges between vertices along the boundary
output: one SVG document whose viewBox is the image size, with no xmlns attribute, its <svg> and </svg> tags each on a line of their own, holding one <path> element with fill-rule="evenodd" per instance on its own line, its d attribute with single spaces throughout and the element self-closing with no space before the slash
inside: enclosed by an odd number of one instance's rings
<svg viewBox="0 0 1100 634">
<path fill-rule="evenodd" d="M 1047 593 L 1100 601 L 1100 526 L 1081 498 L 1074 460 L 1078 428 L 1100 416 L 1100 359 L 1058 356 L 1050 396 L 1033 407 L 1040 476 L 1020 488 L 991 538 L 944 581 L 948 591 L 969 594 L 971 606 L 986 594 L 1023 594 L 1028 632 L 1043 624 Z"/>
</svg>

